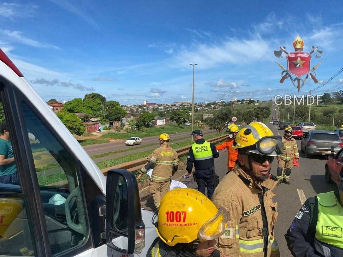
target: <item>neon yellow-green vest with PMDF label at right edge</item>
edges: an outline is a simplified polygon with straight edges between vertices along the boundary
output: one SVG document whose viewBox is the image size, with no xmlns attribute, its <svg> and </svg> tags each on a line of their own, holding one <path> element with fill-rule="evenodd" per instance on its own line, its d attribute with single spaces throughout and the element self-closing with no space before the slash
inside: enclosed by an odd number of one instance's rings
<svg viewBox="0 0 343 257">
<path fill-rule="evenodd" d="M 322 242 L 343 249 L 343 207 L 337 201 L 334 192 L 318 194 L 317 198 L 318 221 L 315 235 L 317 241 L 315 240 L 314 247 L 318 252 L 323 252 L 325 247 L 320 245 Z"/>
</svg>

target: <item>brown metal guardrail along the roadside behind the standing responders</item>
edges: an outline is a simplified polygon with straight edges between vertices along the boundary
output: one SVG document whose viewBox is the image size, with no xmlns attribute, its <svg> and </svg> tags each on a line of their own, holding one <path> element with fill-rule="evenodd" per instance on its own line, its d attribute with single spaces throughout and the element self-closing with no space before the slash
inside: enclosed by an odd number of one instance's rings
<svg viewBox="0 0 343 257">
<path fill-rule="evenodd" d="M 228 134 L 223 135 L 223 136 L 218 136 L 218 137 L 214 137 L 211 138 L 209 140 L 207 140 L 210 143 L 217 143 L 223 139 L 228 138 Z M 181 147 L 179 149 L 175 149 L 175 151 L 177 152 L 177 155 L 184 155 L 187 154 L 187 152 L 189 151 L 189 148 L 191 147 L 191 145 L 188 146 L 184 146 Z M 146 157 L 138 159 L 138 160 L 134 160 L 134 161 L 129 161 L 129 162 L 125 162 L 125 163 L 121 163 L 115 166 L 111 166 L 105 169 L 101 169 L 101 172 L 106 176 L 107 175 L 107 171 L 110 169 L 123 169 L 123 170 L 128 170 L 128 171 L 135 171 L 135 170 L 139 170 L 141 169 L 145 164 L 146 164 Z"/>
</svg>

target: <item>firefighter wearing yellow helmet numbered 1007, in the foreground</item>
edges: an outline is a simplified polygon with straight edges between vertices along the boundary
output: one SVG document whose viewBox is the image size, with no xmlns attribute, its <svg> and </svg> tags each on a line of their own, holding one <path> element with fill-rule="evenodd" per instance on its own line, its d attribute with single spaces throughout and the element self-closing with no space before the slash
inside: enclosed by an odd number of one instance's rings
<svg viewBox="0 0 343 257">
<path fill-rule="evenodd" d="M 161 200 L 155 223 L 158 237 L 147 256 L 219 257 L 213 246 L 228 220 L 228 212 L 201 192 L 173 189 Z"/>
</svg>

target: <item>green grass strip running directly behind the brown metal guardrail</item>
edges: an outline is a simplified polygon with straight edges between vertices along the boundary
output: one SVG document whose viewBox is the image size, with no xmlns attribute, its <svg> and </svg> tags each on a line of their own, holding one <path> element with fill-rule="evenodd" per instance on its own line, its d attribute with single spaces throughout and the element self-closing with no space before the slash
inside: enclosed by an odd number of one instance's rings
<svg viewBox="0 0 343 257">
<path fill-rule="evenodd" d="M 213 133 L 211 135 L 205 136 L 205 139 L 210 139 L 213 137 L 217 137 L 217 136 L 221 136 L 224 133 Z M 186 140 L 184 142 L 180 142 L 180 143 L 171 143 L 170 146 L 172 146 L 174 149 L 177 148 L 181 148 L 184 146 L 188 146 L 191 144 L 191 140 Z M 141 151 L 141 152 L 137 152 L 134 154 L 130 154 L 130 155 L 125 155 L 119 158 L 114 158 L 114 159 L 107 159 L 105 161 L 100 161 L 97 162 L 96 165 L 99 167 L 99 169 L 105 169 L 107 167 L 111 167 L 111 166 L 115 166 L 121 163 L 125 163 L 125 162 L 129 162 L 129 161 L 133 161 L 133 160 L 138 160 L 144 157 L 149 156 L 154 150 L 150 149 L 150 150 L 145 150 L 145 151 Z"/>
</svg>

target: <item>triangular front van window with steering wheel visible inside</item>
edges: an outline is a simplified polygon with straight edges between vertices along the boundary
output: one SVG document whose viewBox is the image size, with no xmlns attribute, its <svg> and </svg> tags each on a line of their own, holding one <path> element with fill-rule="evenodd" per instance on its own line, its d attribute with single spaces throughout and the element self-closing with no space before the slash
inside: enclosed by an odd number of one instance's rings
<svg viewBox="0 0 343 257">
<path fill-rule="evenodd" d="M 79 166 L 25 103 L 22 103 L 22 109 L 43 201 L 51 254 L 61 254 L 81 246 L 89 230 Z"/>
</svg>

